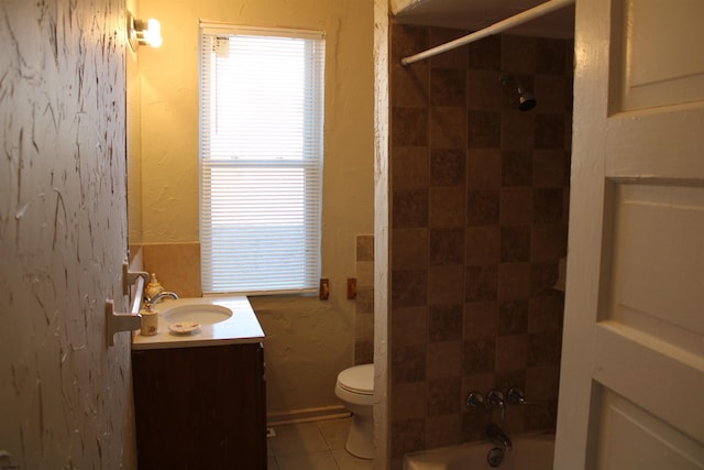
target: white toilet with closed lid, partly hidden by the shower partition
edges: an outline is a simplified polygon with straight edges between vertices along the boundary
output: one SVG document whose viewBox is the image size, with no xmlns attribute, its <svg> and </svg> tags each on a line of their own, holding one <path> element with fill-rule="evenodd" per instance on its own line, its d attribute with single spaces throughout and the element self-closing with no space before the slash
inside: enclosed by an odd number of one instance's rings
<svg viewBox="0 0 704 470">
<path fill-rule="evenodd" d="M 362 459 L 374 458 L 374 364 L 354 365 L 338 374 L 334 394 L 352 412 L 348 452 Z"/>
</svg>

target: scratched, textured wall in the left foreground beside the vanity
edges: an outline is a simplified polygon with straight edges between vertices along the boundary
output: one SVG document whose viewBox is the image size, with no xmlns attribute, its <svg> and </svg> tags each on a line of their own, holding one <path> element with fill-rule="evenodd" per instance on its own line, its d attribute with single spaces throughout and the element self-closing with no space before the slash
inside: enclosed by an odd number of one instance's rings
<svg viewBox="0 0 704 470">
<path fill-rule="evenodd" d="M 0 467 L 132 469 L 124 1 L 0 17 Z"/>
</svg>

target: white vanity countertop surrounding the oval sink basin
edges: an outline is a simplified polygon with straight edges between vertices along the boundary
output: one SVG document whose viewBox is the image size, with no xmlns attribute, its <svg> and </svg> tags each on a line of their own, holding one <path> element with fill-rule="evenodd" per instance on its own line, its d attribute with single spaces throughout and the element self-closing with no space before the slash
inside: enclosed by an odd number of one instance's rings
<svg viewBox="0 0 704 470">
<path fill-rule="evenodd" d="M 211 304 L 232 310 L 232 316 L 224 321 L 212 325 L 201 325 L 188 335 L 177 335 L 169 330 L 168 321 L 162 318 L 162 313 L 176 305 Z M 158 311 L 158 332 L 143 336 L 134 332 L 133 350 L 191 348 L 198 346 L 244 345 L 264 340 L 264 331 L 254 315 L 252 305 L 246 297 L 197 297 L 164 299 L 154 308 Z"/>
</svg>

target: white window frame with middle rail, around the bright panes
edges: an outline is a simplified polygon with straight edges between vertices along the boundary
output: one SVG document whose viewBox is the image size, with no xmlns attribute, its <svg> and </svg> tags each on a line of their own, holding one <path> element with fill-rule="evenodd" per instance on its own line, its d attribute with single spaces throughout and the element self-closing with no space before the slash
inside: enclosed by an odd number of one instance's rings
<svg viewBox="0 0 704 470">
<path fill-rule="evenodd" d="M 210 65 L 205 64 L 206 61 L 211 59 L 211 55 L 207 52 L 208 47 L 212 47 L 215 37 L 232 37 L 232 36 L 268 36 L 279 39 L 294 39 L 294 40 L 311 40 L 316 42 L 311 52 L 306 51 L 306 54 L 316 53 L 316 58 L 308 57 L 306 59 L 305 68 L 305 83 L 306 90 L 312 90 L 315 97 L 308 97 L 307 99 L 315 100 L 317 107 L 312 111 L 304 112 L 301 122 L 302 125 L 302 151 L 299 159 L 239 159 L 230 157 L 231 160 L 212 157 L 211 140 L 207 134 L 208 130 L 212 130 L 212 116 L 210 110 L 206 110 L 210 103 L 210 98 L 205 101 L 204 88 L 206 85 L 211 86 L 212 81 L 206 84 L 206 79 L 210 77 L 215 79 L 211 74 Z M 208 41 L 208 44 L 205 42 Z M 314 51 L 315 50 L 315 51 Z M 212 50 L 210 50 L 212 51 Z M 229 50 L 228 50 L 229 51 Z M 320 278 L 320 265 L 321 265 L 321 231 L 322 231 L 322 165 L 323 165 L 323 118 L 324 118 L 324 54 L 326 43 L 324 34 L 320 31 L 309 30 L 293 30 L 280 28 L 254 28 L 254 26 L 241 26 L 227 23 L 213 23 L 204 22 L 199 24 L 199 232 L 200 232 L 200 263 L 201 263 L 201 285 L 204 294 L 238 294 L 238 295 L 272 295 L 272 294 L 312 294 L 318 291 Z M 307 55 L 306 55 L 307 56 Z M 210 58 L 209 58 L 210 57 Z M 314 61 L 314 62 L 311 62 Z M 318 67 L 318 68 L 316 68 Z M 207 73 L 207 76 L 206 76 Z M 312 87 L 312 88 L 310 88 Z M 306 108 L 304 106 L 304 108 Z M 306 108 L 307 109 L 307 108 Z M 316 112 L 314 117 L 309 112 Z M 217 119 L 215 120 L 217 121 Z M 315 125 L 311 125 L 311 122 Z M 207 149 L 206 149 L 207 147 Z M 315 156 L 311 157 L 311 156 Z M 268 162 L 268 163 L 267 163 Z M 285 167 L 298 167 L 302 171 L 302 209 L 304 209 L 304 227 L 306 236 L 301 239 L 304 244 L 301 247 L 302 252 L 300 255 L 306 261 L 304 262 L 304 273 L 301 274 L 301 283 L 298 285 L 274 285 L 267 284 L 266 280 L 274 280 L 275 272 L 271 275 L 257 275 L 252 277 L 258 277 L 263 283 L 257 284 L 255 287 L 250 286 L 226 286 L 222 287 L 221 281 L 215 281 L 217 277 L 213 269 L 213 262 L 218 262 L 218 258 L 212 253 L 213 248 L 213 225 L 212 221 L 212 206 L 211 206 L 211 186 L 208 186 L 211 182 L 212 170 L 217 167 L 242 167 L 242 165 L 251 164 L 254 167 L 268 168 L 285 168 Z M 262 170 L 263 171 L 263 170 Z M 282 170 L 285 171 L 285 170 Z M 235 229 L 237 230 L 237 229 Z M 283 230 L 282 230 L 283 231 Z M 263 239 L 262 239 L 263 240 Z M 261 243 L 264 244 L 264 243 Z M 248 252 L 249 254 L 249 252 Z M 292 254 L 294 256 L 295 254 Z M 251 256 L 252 258 L 252 256 Z M 283 263 L 282 263 L 283 264 Z M 276 270 L 280 270 L 278 266 Z M 227 271 L 227 270 L 226 270 Z M 232 274 L 238 274 L 239 271 L 232 271 Z M 257 271 L 258 274 L 258 271 Z M 248 277 L 249 280 L 250 277 Z M 271 281 L 273 283 L 273 281 Z"/>
</svg>

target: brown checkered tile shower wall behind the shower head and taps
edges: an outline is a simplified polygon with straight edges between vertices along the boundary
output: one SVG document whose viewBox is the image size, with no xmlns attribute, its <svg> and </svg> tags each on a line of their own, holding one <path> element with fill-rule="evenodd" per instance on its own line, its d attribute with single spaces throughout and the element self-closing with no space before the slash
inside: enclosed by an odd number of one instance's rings
<svg viewBox="0 0 704 470">
<path fill-rule="evenodd" d="M 408 451 L 554 426 L 566 254 L 572 41 L 392 28 L 392 468 Z M 518 110 L 515 74 L 538 106 Z M 534 402 L 470 412 L 471 390 Z"/>
</svg>

